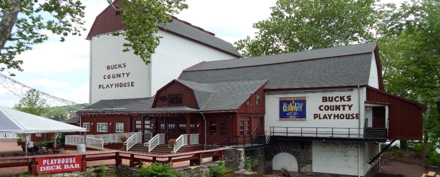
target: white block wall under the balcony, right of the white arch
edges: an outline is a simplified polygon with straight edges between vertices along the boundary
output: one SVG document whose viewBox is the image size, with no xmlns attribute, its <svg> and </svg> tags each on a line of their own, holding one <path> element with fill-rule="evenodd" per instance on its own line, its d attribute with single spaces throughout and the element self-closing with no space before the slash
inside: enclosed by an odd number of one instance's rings
<svg viewBox="0 0 440 177">
<path fill-rule="evenodd" d="M 312 142 L 312 170 L 317 173 L 346 175 L 359 174 L 358 142 L 321 141 Z M 360 147 L 360 161 L 363 161 L 363 143 Z M 361 165 L 361 168 L 363 166 Z M 361 173 L 363 169 L 360 170 Z M 361 174 L 363 176 L 365 173 Z"/>
</svg>

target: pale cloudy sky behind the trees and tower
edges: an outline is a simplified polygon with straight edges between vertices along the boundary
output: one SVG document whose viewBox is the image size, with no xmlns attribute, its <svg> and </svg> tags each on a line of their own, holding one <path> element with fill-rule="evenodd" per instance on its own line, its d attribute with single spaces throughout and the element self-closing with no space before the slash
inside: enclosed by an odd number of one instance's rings
<svg viewBox="0 0 440 177">
<path fill-rule="evenodd" d="M 106 0 L 84 0 L 85 25 L 90 29 L 95 17 L 107 6 Z M 220 39 L 234 43 L 256 32 L 252 24 L 270 17 L 269 7 L 275 0 L 187 0 L 189 8 L 175 16 L 192 25 L 216 34 Z M 12 79 L 44 93 L 77 103 L 88 103 L 89 41 L 88 31 L 82 36 L 68 36 L 59 42 L 59 36 L 41 31 L 49 40 L 33 46 L 17 59 L 23 60 L 23 72 L 10 70 Z M 0 64 L 0 67 L 4 65 Z M 7 71 L 1 72 L 9 75 Z M 20 98 L 0 86 L 0 105 L 13 107 Z"/>
</svg>

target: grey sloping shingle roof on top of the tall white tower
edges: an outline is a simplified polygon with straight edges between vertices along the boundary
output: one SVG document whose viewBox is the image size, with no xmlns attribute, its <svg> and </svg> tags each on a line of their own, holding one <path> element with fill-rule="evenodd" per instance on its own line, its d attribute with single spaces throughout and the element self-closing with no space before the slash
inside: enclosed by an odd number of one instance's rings
<svg viewBox="0 0 440 177">
<path fill-rule="evenodd" d="M 210 35 L 201 31 L 200 29 L 194 28 L 190 25 L 187 25 L 179 20 L 174 20 L 171 23 L 159 24 L 159 27 L 164 28 L 165 30 L 172 31 L 174 33 L 180 34 L 182 36 L 186 36 L 193 40 L 196 40 L 201 43 L 205 43 L 209 46 L 218 48 L 222 51 L 226 51 L 231 54 L 235 54 L 237 56 L 242 56 L 238 53 L 237 49 L 231 44 L 228 43 L 216 36 Z"/>
</svg>

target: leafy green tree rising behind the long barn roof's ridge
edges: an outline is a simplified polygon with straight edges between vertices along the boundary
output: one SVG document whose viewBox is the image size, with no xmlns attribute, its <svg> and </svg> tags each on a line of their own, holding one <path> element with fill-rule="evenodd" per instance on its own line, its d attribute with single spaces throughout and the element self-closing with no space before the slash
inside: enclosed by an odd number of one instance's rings
<svg viewBox="0 0 440 177">
<path fill-rule="evenodd" d="M 336 47 L 373 40 L 375 0 L 278 0 L 254 39 L 235 42 L 245 57 Z"/>
</svg>

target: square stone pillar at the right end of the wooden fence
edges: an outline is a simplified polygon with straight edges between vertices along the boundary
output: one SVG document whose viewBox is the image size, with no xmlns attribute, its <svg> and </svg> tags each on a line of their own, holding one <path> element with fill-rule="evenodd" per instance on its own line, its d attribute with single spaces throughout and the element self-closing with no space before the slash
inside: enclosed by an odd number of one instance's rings
<svg viewBox="0 0 440 177">
<path fill-rule="evenodd" d="M 234 171 L 243 170 L 245 166 L 245 150 L 230 148 L 224 151 L 224 165 Z"/>
</svg>

